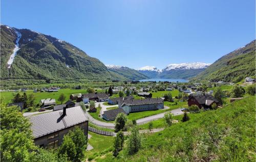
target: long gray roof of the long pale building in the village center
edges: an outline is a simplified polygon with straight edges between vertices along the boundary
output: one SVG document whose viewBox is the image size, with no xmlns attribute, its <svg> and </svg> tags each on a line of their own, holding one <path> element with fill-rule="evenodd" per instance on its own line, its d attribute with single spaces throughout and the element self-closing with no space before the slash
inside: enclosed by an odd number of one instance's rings
<svg viewBox="0 0 256 162">
<path fill-rule="evenodd" d="M 141 104 L 156 104 L 156 103 L 163 103 L 161 98 L 148 98 L 148 99 L 132 99 L 132 100 L 124 100 L 121 104 L 123 105 L 141 105 Z"/>
</svg>

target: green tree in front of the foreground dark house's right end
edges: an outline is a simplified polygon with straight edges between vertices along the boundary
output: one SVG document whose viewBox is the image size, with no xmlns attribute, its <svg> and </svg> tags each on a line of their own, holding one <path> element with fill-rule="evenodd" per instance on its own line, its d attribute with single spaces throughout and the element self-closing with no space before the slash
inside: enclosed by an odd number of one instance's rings
<svg viewBox="0 0 256 162">
<path fill-rule="evenodd" d="M 84 158 L 83 151 L 87 148 L 87 138 L 84 136 L 83 130 L 75 126 L 74 130 L 70 130 L 63 138 L 63 142 L 59 148 L 59 156 L 68 155 L 71 161 L 82 161 Z"/>
</svg>

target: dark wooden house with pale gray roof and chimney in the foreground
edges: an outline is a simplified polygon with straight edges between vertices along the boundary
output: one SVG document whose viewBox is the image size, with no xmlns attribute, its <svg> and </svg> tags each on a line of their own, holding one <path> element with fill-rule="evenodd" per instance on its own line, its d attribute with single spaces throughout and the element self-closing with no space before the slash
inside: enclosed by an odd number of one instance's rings
<svg viewBox="0 0 256 162">
<path fill-rule="evenodd" d="M 80 106 L 29 117 L 34 142 L 44 148 L 58 148 L 63 136 L 79 126 L 88 137 L 88 118 Z"/>
</svg>

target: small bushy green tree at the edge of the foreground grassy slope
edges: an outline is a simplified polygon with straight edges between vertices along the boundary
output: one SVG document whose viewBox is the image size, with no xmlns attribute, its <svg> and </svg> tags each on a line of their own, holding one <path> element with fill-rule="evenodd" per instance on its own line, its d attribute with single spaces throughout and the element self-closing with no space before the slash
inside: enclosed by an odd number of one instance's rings
<svg viewBox="0 0 256 162">
<path fill-rule="evenodd" d="M 139 133 L 139 128 L 136 125 L 133 126 L 127 143 L 127 151 L 130 155 L 135 154 L 141 148 L 141 136 Z"/>
</svg>

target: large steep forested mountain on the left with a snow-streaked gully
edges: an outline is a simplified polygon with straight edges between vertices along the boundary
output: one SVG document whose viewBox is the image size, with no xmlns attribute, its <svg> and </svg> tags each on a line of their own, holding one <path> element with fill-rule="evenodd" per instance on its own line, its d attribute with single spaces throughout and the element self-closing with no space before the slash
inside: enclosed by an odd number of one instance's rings
<svg viewBox="0 0 256 162">
<path fill-rule="evenodd" d="M 19 50 L 8 68 L 16 40 L 22 34 Z M 27 29 L 1 25 L 1 79 L 124 79 L 108 71 L 105 65 L 81 49 L 57 38 Z"/>
</svg>

